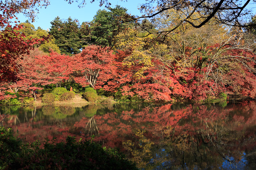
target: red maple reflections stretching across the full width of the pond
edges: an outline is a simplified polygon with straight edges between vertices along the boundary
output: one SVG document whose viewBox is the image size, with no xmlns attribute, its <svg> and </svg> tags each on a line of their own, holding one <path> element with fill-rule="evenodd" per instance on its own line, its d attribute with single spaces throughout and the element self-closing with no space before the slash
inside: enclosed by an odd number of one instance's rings
<svg viewBox="0 0 256 170">
<path fill-rule="evenodd" d="M 46 124 L 44 121 L 33 122 L 33 118 L 30 118 L 25 123 L 18 124 L 16 121 L 15 125 L 15 115 L 13 115 L 12 119 L 6 122 L 6 127 L 12 127 L 15 130 L 17 126 L 19 137 L 26 138 L 24 140 L 27 142 L 37 139 L 43 141 L 45 137 L 49 139 L 57 137 L 58 141 L 64 141 L 68 135 L 76 136 L 78 140 L 79 138 L 91 138 L 92 134 L 88 135 L 90 129 L 86 128 L 91 119 L 83 117 L 75 124 L 64 120 Z M 109 112 L 104 115 L 94 115 L 93 119 L 95 121 L 93 126 L 98 128 L 97 133 L 94 134 L 96 135 L 94 141 L 99 141 L 104 146 L 120 149 L 123 149 L 123 141 L 134 138 L 134 129 L 145 130 L 144 136 L 154 141 L 155 144 L 159 143 L 160 138 L 175 139 L 186 134 L 187 137 L 194 137 L 193 140 L 198 140 L 199 144 L 221 141 L 225 138 L 225 142 L 232 141 L 232 145 L 226 146 L 231 150 L 237 149 L 235 147 L 237 139 L 244 144 L 241 147 L 243 149 L 255 147 L 255 142 L 248 139 L 255 137 L 255 129 L 252 128 L 256 124 L 254 102 L 228 105 L 224 108 L 203 104 L 190 104 L 176 108 L 173 104 L 165 104 L 155 108 L 145 107 L 140 111 L 130 110 L 122 113 Z M 162 127 L 168 126 L 172 127 L 172 132 L 163 133 Z M 226 133 L 234 133 L 234 135 L 228 136 Z"/>
</svg>

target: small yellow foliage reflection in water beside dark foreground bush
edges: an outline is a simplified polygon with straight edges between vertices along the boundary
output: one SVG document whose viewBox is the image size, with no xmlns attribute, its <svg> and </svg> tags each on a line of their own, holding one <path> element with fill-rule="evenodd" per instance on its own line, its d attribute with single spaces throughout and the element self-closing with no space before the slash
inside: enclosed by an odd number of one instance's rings
<svg viewBox="0 0 256 170">
<path fill-rule="evenodd" d="M 135 131 L 135 135 L 139 137 L 138 143 L 134 143 L 131 140 L 123 142 L 124 148 L 131 152 L 133 156 L 131 160 L 136 162 L 138 168 L 146 167 L 148 161 L 152 159 L 151 149 L 154 142 L 147 139 L 143 133 L 145 133 L 145 130 Z"/>
</svg>

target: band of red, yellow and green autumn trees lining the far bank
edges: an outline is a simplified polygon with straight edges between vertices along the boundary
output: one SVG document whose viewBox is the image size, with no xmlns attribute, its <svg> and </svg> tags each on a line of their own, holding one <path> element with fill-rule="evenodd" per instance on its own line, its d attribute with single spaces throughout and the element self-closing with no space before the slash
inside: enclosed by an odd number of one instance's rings
<svg viewBox="0 0 256 170">
<path fill-rule="evenodd" d="M 47 31 L 28 21 L 12 27 L 2 18 L 7 24 L 2 28 L 8 29 L 1 34 L 5 38 L 0 37 L 0 100 L 10 98 L 3 93 L 10 88 L 29 91 L 36 100 L 37 91 L 53 85 L 69 89 L 71 84 L 76 92 L 90 86 L 118 101 L 216 100 L 232 93 L 255 98 L 255 17 L 245 33 L 237 23 L 226 28 L 200 5 L 203 11 L 189 4 L 164 8 L 150 16 L 152 20 L 134 19 L 118 5 L 97 11 L 91 22 L 81 25 L 57 17 L 51 22 L 52 39 L 44 44 Z M 57 93 L 55 100 L 64 91 Z"/>
</svg>

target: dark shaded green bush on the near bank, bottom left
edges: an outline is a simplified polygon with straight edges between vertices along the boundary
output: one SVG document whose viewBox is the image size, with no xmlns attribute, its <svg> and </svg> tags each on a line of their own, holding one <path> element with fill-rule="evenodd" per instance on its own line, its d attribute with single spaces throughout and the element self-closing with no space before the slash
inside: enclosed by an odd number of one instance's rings
<svg viewBox="0 0 256 170">
<path fill-rule="evenodd" d="M 11 129 L 0 127 L 0 169 L 137 169 L 124 154 L 91 140 L 76 142 L 67 137 L 65 143 L 55 141 L 46 139 L 40 149 L 40 142 L 22 144 Z"/>
</svg>

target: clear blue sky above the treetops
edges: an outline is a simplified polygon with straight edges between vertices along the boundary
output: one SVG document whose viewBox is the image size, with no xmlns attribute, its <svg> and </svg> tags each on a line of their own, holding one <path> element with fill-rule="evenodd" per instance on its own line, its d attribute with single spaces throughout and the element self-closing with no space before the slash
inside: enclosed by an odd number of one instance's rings
<svg viewBox="0 0 256 170">
<path fill-rule="evenodd" d="M 65 0 L 51 0 L 51 4 L 47 6 L 46 9 L 42 8 L 37 14 L 35 22 L 32 24 L 37 28 L 40 26 L 42 29 L 47 30 L 51 28 L 51 21 L 59 16 L 61 19 L 78 19 L 80 23 L 83 21 L 92 21 L 93 16 L 99 9 L 104 9 L 105 6 L 99 6 L 99 2 L 96 0 L 93 3 L 90 3 L 91 0 L 88 0 L 88 3 L 83 8 L 78 8 L 78 3 L 68 4 Z M 111 7 L 114 8 L 116 4 L 128 9 L 128 13 L 132 15 L 140 15 L 140 11 L 137 6 L 142 4 L 145 1 L 141 0 L 128 0 L 128 2 L 122 2 L 120 0 L 109 0 Z M 20 22 L 25 22 L 28 18 L 25 18 L 23 15 L 18 15 Z"/>
</svg>

